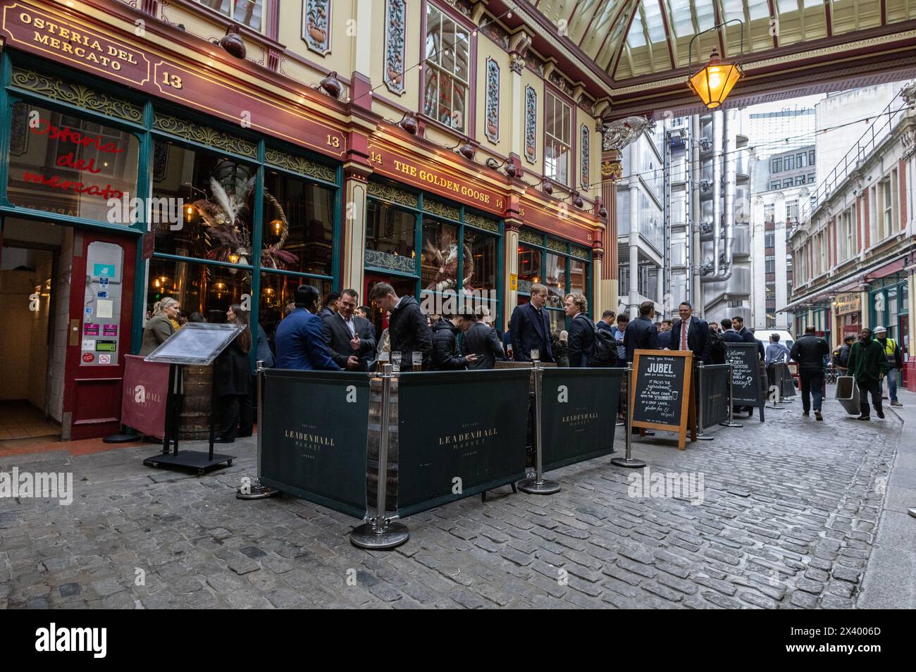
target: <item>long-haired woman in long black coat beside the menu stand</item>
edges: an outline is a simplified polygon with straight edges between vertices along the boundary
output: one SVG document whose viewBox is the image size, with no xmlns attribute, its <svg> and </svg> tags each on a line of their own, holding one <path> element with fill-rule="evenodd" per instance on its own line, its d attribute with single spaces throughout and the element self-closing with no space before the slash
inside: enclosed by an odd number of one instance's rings
<svg viewBox="0 0 916 672">
<path fill-rule="evenodd" d="M 250 437 L 252 430 L 248 312 L 235 303 L 226 310 L 226 320 L 244 325 L 245 330 L 240 331 L 213 362 L 213 394 L 219 397 L 223 408 L 223 428 L 216 439 L 219 443 L 232 443 L 235 437 Z"/>
</svg>

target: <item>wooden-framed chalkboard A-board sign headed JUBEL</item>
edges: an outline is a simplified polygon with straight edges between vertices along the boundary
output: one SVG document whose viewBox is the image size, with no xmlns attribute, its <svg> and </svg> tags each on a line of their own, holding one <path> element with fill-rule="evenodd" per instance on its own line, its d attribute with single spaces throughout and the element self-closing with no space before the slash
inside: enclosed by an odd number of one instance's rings
<svg viewBox="0 0 916 672">
<path fill-rule="evenodd" d="M 629 412 L 632 427 L 679 432 L 683 448 L 691 411 L 693 353 L 638 350 L 633 354 L 633 388 Z"/>
</svg>

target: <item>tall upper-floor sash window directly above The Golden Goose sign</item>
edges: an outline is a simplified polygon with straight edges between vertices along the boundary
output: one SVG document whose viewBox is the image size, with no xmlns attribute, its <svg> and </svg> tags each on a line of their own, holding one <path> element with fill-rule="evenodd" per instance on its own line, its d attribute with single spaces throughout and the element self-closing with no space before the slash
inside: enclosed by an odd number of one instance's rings
<svg viewBox="0 0 916 672">
<path fill-rule="evenodd" d="M 426 5 L 423 114 L 466 131 L 471 36 L 431 4 Z"/>
</svg>

